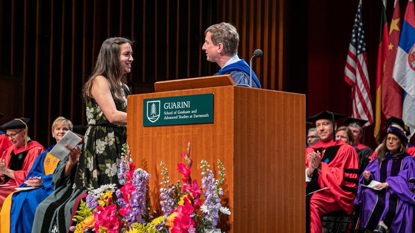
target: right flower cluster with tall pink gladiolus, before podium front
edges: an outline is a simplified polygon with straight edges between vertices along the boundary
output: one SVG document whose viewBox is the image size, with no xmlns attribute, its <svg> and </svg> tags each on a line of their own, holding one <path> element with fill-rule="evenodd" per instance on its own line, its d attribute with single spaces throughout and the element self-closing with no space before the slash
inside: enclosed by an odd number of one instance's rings
<svg viewBox="0 0 415 233">
<path fill-rule="evenodd" d="M 190 141 L 186 153 L 182 153 L 186 164 L 178 163 L 177 170 L 183 175 L 183 185 L 180 181 L 173 185 L 170 183 L 168 170 L 165 163 L 161 161 L 161 175 L 164 186 L 160 188 L 160 197 L 163 199 L 161 209 L 167 218 L 164 226 L 159 225 L 159 232 L 221 232 L 216 226 L 219 214 L 230 215 L 227 207 L 221 205 L 219 195 L 223 195 L 220 187 L 224 181 L 225 168 L 218 160 L 219 179 L 215 179 L 213 172 L 209 169 L 208 162 L 202 160 L 202 186 L 191 178 L 191 167 L 193 160 L 190 158 Z M 204 202 L 202 204 L 202 200 Z"/>
</svg>

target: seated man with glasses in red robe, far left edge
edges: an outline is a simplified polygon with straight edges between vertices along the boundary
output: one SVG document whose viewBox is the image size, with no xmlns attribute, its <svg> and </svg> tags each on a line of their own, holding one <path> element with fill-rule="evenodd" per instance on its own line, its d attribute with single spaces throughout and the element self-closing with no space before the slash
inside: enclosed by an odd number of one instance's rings
<svg viewBox="0 0 415 233">
<path fill-rule="evenodd" d="M 24 117 L 15 118 L 0 126 L 13 144 L 0 156 L 0 210 L 5 198 L 25 181 L 36 157 L 45 151 L 27 136 L 29 121 Z"/>
</svg>

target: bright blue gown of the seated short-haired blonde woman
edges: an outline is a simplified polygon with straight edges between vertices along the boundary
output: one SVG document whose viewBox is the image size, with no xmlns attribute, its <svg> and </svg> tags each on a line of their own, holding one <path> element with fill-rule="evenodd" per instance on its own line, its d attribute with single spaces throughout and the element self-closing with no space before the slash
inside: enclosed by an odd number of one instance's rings
<svg viewBox="0 0 415 233">
<path fill-rule="evenodd" d="M 10 232 L 31 232 L 33 219 L 37 205 L 45 200 L 52 192 L 52 178 L 53 173 L 45 175 L 44 161 L 48 152 L 52 150 L 54 145 L 51 145 L 44 153 L 40 154 L 29 173 L 27 179 L 30 177 L 42 177 L 43 186 L 31 190 L 23 190 L 13 194 L 12 205 L 10 210 Z M 56 169 L 59 165 L 56 166 Z M 22 183 L 19 187 L 26 187 Z"/>
</svg>

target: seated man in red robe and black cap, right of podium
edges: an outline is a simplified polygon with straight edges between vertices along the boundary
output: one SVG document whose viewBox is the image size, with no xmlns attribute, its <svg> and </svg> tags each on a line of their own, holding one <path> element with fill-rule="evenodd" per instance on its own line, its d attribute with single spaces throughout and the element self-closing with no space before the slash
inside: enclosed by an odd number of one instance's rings
<svg viewBox="0 0 415 233">
<path fill-rule="evenodd" d="M 323 232 L 320 217 L 344 210 L 351 213 L 357 193 L 359 159 L 356 150 L 336 140 L 336 120 L 344 115 L 323 111 L 315 121 L 321 139 L 305 151 L 306 232 Z"/>
</svg>

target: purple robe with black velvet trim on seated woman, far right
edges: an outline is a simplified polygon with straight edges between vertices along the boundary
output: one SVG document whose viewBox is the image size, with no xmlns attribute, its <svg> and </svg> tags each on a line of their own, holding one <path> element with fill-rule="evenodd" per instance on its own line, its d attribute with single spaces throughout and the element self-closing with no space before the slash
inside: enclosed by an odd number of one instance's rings
<svg viewBox="0 0 415 233">
<path fill-rule="evenodd" d="M 355 203 L 360 204 L 362 227 L 374 230 L 383 220 L 391 233 L 412 232 L 415 158 L 405 152 L 396 158 L 381 162 L 373 160 L 365 171 L 370 172 L 369 181 L 361 175 L 360 184 L 376 180 L 387 182 L 390 187 L 377 191 L 359 185 Z"/>
</svg>

